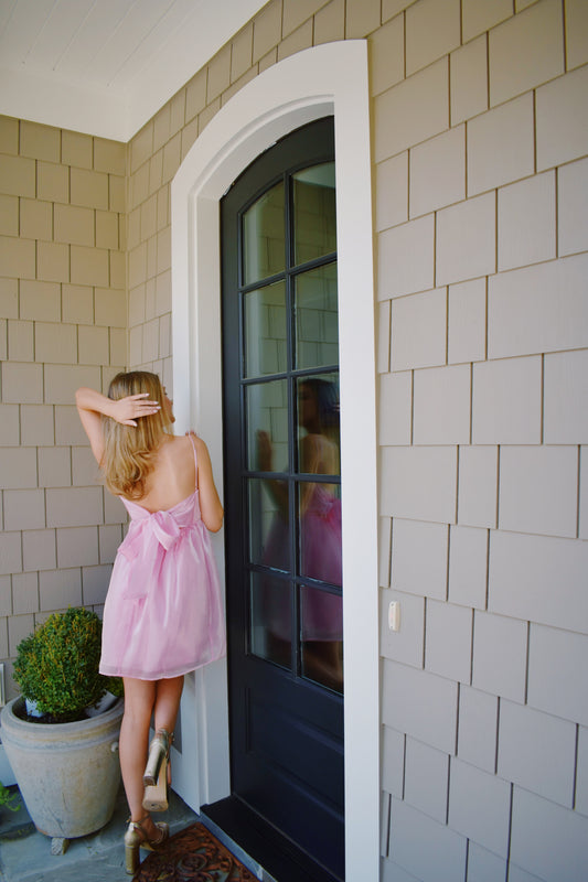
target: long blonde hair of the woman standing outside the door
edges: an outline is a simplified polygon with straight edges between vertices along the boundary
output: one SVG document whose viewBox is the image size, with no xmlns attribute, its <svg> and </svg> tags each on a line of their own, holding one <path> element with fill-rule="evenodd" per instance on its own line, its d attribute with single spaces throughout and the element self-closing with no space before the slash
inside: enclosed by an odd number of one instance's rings
<svg viewBox="0 0 588 882">
<path fill-rule="evenodd" d="M 108 398 L 118 400 L 128 395 L 149 392 L 150 401 L 163 402 L 163 388 L 157 374 L 130 370 L 117 374 L 110 383 Z M 163 407 L 157 413 L 139 417 L 137 426 L 103 417 L 103 467 L 108 490 L 129 499 L 145 496 L 145 482 L 152 471 L 153 453 L 158 450 L 171 420 Z"/>
</svg>

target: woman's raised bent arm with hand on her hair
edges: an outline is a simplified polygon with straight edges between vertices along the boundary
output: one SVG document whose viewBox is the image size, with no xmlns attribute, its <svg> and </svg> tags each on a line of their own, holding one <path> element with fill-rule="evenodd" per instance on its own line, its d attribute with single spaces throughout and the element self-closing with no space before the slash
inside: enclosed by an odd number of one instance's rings
<svg viewBox="0 0 588 882">
<path fill-rule="evenodd" d="M 121 422 L 124 426 L 137 426 L 139 417 L 157 413 L 160 409 L 158 401 L 146 401 L 145 399 L 148 397 L 149 392 L 140 392 L 139 395 L 129 395 L 126 398 L 119 398 L 114 401 L 108 396 L 86 386 L 76 391 L 75 404 L 77 412 L 98 464 L 101 464 L 104 454 L 101 417 L 110 417 L 110 419 Z"/>
</svg>

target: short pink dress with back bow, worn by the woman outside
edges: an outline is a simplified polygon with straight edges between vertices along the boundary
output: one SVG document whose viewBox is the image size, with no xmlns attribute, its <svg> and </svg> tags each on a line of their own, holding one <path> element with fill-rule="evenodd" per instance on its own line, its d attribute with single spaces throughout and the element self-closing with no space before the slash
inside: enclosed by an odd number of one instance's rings
<svg viewBox="0 0 588 882">
<path fill-rule="evenodd" d="M 131 523 L 104 607 L 100 674 L 158 680 L 221 658 L 221 585 L 197 490 L 153 514 L 120 498 Z"/>
</svg>

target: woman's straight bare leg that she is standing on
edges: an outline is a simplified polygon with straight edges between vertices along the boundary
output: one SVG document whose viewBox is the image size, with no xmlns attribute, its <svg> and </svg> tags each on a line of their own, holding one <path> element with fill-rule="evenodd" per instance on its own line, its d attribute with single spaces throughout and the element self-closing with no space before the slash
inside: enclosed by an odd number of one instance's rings
<svg viewBox="0 0 588 882">
<path fill-rule="evenodd" d="M 149 725 L 156 702 L 157 682 L 125 677 L 125 714 L 120 727 L 119 753 L 122 783 L 131 820 L 145 817 L 143 772 L 147 763 Z M 151 820 L 143 824 L 150 838 L 157 836 Z"/>
</svg>

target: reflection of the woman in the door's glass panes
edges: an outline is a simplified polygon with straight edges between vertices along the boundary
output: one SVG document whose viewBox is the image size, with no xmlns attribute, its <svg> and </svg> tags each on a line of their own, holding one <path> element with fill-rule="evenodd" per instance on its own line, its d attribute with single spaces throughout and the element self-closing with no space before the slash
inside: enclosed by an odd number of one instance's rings
<svg viewBox="0 0 588 882">
<path fill-rule="evenodd" d="M 333 475 L 339 466 L 339 401 L 334 385 L 318 377 L 300 383 L 299 423 L 306 430 L 300 439 L 299 469 L 302 474 Z M 259 433 L 259 467 L 271 470 L 271 443 Z M 300 571 L 303 577 L 341 585 L 341 501 L 335 486 L 322 482 L 301 482 L 299 498 Z M 287 494 L 284 482 L 271 482 L 278 513 L 268 536 L 265 560 L 279 567 L 287 548 Z M 276 588 L 269 596 L 276 596 Z M 282 592 L 279 592 L 282 596 Z M 281 606 L 281 611 L 278 609 Z M 290 639 L 289 614 L 284 604 L 268 604 L 268 627 L 287 650 Z M 339 594 L 303 587 L 301 589 L 300 633 L 303 674 L 333 689 L 343 687 L 342 604 Z M 286 646 L 284 644 L 286 643 Z M 280 659 L 281 660 L 281 659 Z M 284 658 L 284 660 L 287 660 Z"/>
</svg>

